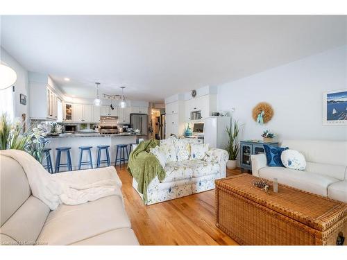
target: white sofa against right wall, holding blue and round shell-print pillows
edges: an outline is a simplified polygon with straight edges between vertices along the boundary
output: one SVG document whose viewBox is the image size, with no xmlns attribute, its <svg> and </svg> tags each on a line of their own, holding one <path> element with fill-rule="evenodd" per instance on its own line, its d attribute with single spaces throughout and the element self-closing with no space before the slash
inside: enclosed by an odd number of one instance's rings
<svg viewBox="0 0 347 260">
<path fill-rule="evenodd" d="M 286 140 L 282 147 L 305 156 L 305 171 L 266 166 L 264 154 L 252 155 L 252 174 L 311 193 L 347 202 L 347 141 Z"/>
</svg>

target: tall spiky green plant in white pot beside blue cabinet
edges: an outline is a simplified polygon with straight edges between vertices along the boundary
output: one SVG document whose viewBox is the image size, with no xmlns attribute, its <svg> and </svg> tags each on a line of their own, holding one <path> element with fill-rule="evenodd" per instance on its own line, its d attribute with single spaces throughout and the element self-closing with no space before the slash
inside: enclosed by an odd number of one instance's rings
<svg viewBox="0 0 347 260">
<path fill-rule="evenodd" d="M 228 133 L 228 145 L 226 150 L 229 154 L 229 160 L 226 163 L 226 168 L 233 170 L 237 166 L 237 156 L 239 155 L 239 141 L 237 139 L 239 135 L 239 123 L 234 120 L 234 123 L 230 121 L 230 127 L 226 128 Z"/>
</svg>

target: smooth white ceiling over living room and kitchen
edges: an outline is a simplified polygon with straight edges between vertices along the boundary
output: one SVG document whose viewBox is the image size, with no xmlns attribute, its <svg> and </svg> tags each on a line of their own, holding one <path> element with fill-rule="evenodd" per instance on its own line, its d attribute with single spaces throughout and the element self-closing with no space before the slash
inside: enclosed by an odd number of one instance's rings
<svg viewBox="0 0 347 260">
<path fill-rule="evenodd" d="M 347 44 L 346 32 L 346 16 L 3 16 L 1 46 L 68 96 L 93 98 L 99 81 L 162 101 Z"/>
</svg>

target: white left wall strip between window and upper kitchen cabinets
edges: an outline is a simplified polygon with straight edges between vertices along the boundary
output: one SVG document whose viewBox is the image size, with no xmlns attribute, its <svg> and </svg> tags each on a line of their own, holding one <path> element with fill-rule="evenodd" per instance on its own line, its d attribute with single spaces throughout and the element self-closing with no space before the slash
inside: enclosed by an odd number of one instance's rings
<svg viewBox="0 0 347 260">
<path fill-rule="evenodd" d="M 14 69 L 17 73 L 17 81 L 15 82 L 15 117 L 22 118 L 22 114 L 29 117 L 29 97 L 28 97 L 28 71 L 22 67 L 5 49 L 1 47 L 1 60 L 6 62 L 9 67 Z M 19 95 L 26 95 L 26 105 L 19 102 Z"/>
</svg>

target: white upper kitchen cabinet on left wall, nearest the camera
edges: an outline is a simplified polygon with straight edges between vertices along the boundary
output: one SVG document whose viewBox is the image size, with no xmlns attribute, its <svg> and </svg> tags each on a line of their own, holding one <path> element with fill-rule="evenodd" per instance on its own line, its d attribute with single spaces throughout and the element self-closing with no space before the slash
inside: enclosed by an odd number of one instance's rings
<svg viewBox="0 0 347 260">
<path fill-rule="evenodd" d="M 56 121 L 58 119 L 58 94 L 48 75 L 28 73 L 29 117 L 35 120 Z"/>
</svg>

